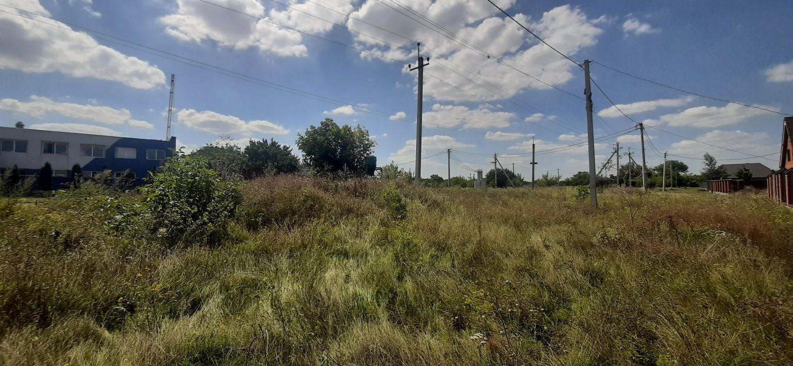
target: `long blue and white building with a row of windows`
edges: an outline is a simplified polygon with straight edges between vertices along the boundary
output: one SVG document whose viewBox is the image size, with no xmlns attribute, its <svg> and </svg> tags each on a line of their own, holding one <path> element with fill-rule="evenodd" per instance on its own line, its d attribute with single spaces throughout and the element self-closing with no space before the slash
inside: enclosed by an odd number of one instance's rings
<svg viewBox="0 0 793 366">
<path fill-rule="evenodd" d="M 17 122 L 15 128 L 0 127 L 0 170 L 5 173 L 16 165 L 20 175 L 33 177 L 49 162 L 52 188 L 58 189 L 70 180 L 71 168 L 79 164 L 83 177 L 93 177 L 102 170 L 121 177 L 132 170 L 140 185 L 148 172 L 174 154 L 175 148 L 176 137 L 166 141 L 33 130 Z"/>
</svg>

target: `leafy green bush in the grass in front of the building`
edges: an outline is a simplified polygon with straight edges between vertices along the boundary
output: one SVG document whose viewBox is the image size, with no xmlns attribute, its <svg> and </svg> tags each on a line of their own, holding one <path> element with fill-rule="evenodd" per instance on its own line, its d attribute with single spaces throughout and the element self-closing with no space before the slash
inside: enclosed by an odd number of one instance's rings
<svg viewBox="0 0 793 366">
<path fill-rule="evenodd" d="M 171 242 L 204 242 L 223 232 L 239 204 L 239 185 L 224 181 L 205 158 L 176 151 L 143 187 L 151 230 Z"/>
</svg>

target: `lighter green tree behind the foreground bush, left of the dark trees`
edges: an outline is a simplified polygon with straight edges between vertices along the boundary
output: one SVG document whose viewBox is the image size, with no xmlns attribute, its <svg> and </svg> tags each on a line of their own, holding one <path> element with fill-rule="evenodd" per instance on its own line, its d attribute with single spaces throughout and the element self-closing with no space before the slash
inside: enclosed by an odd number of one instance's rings
<svg viewBox="0 0 793 366">
<path fill-rule="evenodd" d="M 190 156 L 204 158 L 209 169 L 220 173 L 225 180 L 242 179 L 248 165 L 247 155 L 229 136 L 207 143 Z"/>
</svg>

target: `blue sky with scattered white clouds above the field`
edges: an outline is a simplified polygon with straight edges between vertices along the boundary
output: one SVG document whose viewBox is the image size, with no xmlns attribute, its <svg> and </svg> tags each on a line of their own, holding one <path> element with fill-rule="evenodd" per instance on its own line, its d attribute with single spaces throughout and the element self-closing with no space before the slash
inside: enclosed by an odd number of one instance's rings
<svg viewBox="0 0 793 366">
<path fill-rule="evenodd" d="M 576 63 L 596 62 L 592 80 L 647 126 L 648 166 L 665 151 L 693 173 L 706 151 L 779 166 L 783 115 L 602 65 L 791 113 L 793 2 L 494 2 Z M 452 149 L 451 174 L 468 177 L 500 154 L 529 177 L 534 141 L 538 178 L 588 170 L 587 147 L 568 147 L 587 136 L 582 69 L 487 0 L 0 0 L 0 11 L 2 126 L 164 139 L 175 74 L 173 135 L 186 151 L 228 136 L 299 154 L 297 134 L 329 117 L 369 130 L 378 165 L 414 170 L 406 64 L 418 41 L 430 58 L 423 157 Z M 641 162 L 638 131 L 608 137 L 635 123 L 594 85 L 592 98 L 606 136 L 598 165 L 616 142 Z M 446 171 L 445 153 L 422 160 L 423 177 Z"/>
</svg>

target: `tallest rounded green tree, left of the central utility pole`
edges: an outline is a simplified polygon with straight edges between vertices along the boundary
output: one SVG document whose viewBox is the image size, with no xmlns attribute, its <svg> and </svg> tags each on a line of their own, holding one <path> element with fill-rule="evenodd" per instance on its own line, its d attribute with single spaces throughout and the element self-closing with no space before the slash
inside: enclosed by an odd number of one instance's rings
<svg viewBox="0 0 793 366">
<path fill-rule="evenodd" d="M 347 170 L 366 172 L 364 158 L 372 154 L 374 139 L 361 126 L 340 126 L 331 118 L 311 125 L 305 134 L 297 134 L 297 148 L 303 151 L 303 162 L 320 173 Z"/>
</svg>

